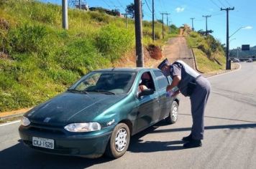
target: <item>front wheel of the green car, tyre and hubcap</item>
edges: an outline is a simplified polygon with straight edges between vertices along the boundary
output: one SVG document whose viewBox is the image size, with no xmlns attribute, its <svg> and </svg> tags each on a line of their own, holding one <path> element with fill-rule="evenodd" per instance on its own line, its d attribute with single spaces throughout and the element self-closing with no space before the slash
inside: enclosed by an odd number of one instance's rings
<svg viewBox="0 0 256 169">
<path fill-rule="evenodd" d="M 111 134 L 105 155 L 110 158 L 120 158 L 127 151 L 129 140 L 129 127 L 124 123 L 119 123 Z"/>
</svg>

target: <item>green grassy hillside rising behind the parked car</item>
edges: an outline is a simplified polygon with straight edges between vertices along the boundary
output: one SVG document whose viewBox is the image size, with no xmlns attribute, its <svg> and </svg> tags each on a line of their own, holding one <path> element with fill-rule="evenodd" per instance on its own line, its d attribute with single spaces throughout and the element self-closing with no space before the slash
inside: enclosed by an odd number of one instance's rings
<svg viewBox="0 0 256 169">
<path fill-rule="evenodd" d="M 32 107 L 73 84 L 93 69 L 111 67 L 134 49 L 134 21 L 96 11 L 68 10 L 69 29 L 61 27 L 61 6 L 37 1 L 0 1 L 0 112 Z M 9 25 L 4 28 L 5 21 Z M 162 46 L 170 36 L 156 22 L 143 21 L 145 45 Z"/>
</svg>

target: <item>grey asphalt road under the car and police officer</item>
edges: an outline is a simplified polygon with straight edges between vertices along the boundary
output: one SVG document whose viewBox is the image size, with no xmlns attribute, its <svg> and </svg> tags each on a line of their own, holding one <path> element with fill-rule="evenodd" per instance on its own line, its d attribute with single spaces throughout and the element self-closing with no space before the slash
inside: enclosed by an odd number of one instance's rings
<svg viewBox="0 0 256 169">
<path fill-rule="evenodd" d="M 189 98 L 174 125 L 160 122 L 132 137 L 117 160 L 37 153 L 19 140 L 19 123 L 0 126 L 0 168 L 256 168 L 256 63 L 209 78 L 203 147 L 183 149 L 190 133 Z"/>
</svg>

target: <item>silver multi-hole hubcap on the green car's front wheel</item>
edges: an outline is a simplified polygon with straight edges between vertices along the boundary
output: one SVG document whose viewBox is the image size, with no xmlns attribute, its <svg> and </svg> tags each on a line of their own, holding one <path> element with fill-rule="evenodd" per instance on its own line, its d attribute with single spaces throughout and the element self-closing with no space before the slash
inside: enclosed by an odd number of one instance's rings
<svg viewBox="0 0 256 169">
<path fill-rule="evenodd" d="M 116 133 L 115 147 L 118 152 L 124 150 L 127 145 L 127 130 L 121 128 Z"/>
</svg>

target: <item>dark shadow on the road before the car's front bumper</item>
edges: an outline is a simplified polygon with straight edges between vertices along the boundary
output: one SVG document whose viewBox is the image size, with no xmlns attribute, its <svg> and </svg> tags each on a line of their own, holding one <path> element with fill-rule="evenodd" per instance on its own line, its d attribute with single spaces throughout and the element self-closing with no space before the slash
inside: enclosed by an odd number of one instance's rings
<svg viewBox="0 0 256 169">
<path fill-rule="evenodd" d="M 0 152 L 0 168 L 88 168 L 109 162 L 109 158 L 87 159 L 63 155 L 40 153 L 23 145 L 17 145 Z"/>
</svg>

